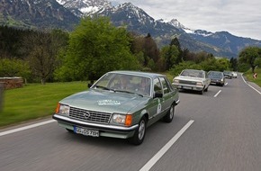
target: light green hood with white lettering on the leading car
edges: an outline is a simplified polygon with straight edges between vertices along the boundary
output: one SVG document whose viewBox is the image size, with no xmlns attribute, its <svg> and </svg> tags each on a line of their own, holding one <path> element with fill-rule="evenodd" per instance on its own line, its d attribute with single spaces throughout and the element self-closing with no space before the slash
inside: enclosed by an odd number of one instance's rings
<svg viewBox="0 0 261 171">
<path fill-rule="evenodd" d="M 138 106 L 143 106 L 148 102 L 148 99 L 148 97 L 142 97 L 139 94 L 89 89 L 70 95 L 59 103 L 90 111 L 127 113 L 134 107 L 139 110 Z"/>
</svg>

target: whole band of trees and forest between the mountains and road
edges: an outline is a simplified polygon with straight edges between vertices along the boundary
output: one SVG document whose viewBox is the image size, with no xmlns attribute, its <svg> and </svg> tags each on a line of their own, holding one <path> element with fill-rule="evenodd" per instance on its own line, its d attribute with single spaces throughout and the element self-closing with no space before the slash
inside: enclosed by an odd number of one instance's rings
<svg viewBox="0 0 261 171">
<path fill-rule="evenodd" d="M 240 55 L 248 56 L 245 51 Z M 250 67 L 246 58 L 240 61 L 183 49 L 178 37 L 158 48 L 149 32 L 142 36 L 115 27 L 106 17 L 83 18 L 71 32 L 0 26 L 0 77 L 22 76 L 29 83 L 96 80 L 120 69 L 176 76 L 184 68 L 223 71 Z"/>
</svg>

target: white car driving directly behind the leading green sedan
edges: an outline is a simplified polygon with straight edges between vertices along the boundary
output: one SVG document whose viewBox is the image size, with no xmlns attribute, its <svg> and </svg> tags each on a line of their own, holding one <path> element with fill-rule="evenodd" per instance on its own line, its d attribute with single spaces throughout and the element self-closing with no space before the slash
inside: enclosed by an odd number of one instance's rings
<svg viewBox="0 0 261 171">
<path fill-rule="evenodd" d="M 172 85 L 178 89 L 198 91 L 200 94 L 207 92 L 211 79 L 203 70 L 184 69 L 179 76 L 175 76 Z"/>
</svg>

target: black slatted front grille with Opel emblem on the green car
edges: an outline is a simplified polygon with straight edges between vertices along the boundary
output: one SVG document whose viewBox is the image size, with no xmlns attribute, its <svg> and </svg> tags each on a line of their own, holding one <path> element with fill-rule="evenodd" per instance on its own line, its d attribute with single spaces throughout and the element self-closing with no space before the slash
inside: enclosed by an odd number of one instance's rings
<svg viewBox="0 0 261 171">
<path fill-rule="evenodd" d="M 82 121 L 92 121 L 98 123 L 109 123 L 112 113 L 94 112 L 76 107 L 70 107 L 69 117 Z"/>
</svg>

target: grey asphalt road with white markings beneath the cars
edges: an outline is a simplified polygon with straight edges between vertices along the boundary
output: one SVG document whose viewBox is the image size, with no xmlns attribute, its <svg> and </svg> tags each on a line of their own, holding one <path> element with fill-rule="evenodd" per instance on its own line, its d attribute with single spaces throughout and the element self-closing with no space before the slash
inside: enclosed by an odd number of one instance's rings
<svg viewBox="0 0 261 171">
<path fill-rule="evenodd" d="M 27 124 L 0 130 L 0 170 L 260 171 L 257 91 L 238 76 L 223 87 L 211 85 L 202 95 L 180 92 L 174 121 L 149 127 L 139 146 L 71 134 L 50 119 L 31 129 Z"/>
</svg>

